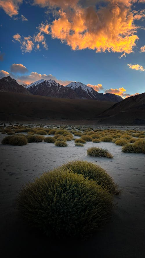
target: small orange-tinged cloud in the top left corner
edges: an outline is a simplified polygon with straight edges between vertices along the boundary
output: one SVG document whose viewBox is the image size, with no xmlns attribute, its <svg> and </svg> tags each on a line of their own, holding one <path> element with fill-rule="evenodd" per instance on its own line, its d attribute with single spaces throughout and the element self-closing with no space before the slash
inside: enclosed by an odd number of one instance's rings
<svg viewBox="0 0 145 258">
<path fill-rule="evenodd" d="M 19 5 L 23 0 L 0 0 L 0 8 L 2 8 L 10 17 L 18 14 Z"/>
</svg>

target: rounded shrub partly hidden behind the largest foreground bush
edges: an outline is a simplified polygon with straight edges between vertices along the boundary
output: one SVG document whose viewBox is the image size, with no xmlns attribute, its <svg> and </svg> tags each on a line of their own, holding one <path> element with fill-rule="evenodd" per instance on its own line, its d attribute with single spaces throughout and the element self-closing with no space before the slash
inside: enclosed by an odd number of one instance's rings
<svg viewBox="0 0 145 258">
<path fill-rule="evenodd" d="M 117 194 L 117 185 L 111 176 L 100 166 L 88 161 L 70 161 L 60 167 L 60 169 L 68 169 L 73 173 L 82 174 L 84 178 L 95 180 L 102 188 L 107 189 L 110 194 Z"/>
</svg>

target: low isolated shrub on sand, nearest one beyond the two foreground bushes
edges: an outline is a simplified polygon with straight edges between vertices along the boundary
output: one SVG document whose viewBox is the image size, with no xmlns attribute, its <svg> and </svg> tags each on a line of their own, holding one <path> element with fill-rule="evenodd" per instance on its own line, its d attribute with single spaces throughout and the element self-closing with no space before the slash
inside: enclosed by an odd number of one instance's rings
<svg viewBox="0 0 145 258">
<path fill-rule="evenodd" d="M 94 157 L 113 158 L 113 155 L 108 150 L 102 149 L 99 147 L 91 147 L 87 149 L 87 154 L 89 156 L 94 156 Z"/>
</svg>

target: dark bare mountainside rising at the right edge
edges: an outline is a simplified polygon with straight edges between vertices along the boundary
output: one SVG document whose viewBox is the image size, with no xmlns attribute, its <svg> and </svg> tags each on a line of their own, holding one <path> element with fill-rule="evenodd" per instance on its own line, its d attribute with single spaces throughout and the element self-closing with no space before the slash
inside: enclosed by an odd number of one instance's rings
<svg viewBox="0 0 145 258">
<path fill-rule="evenodd" d="M 100 123 L 145 124 L 145 93 L 114 104 L 97 117 Z"/>
</svg>

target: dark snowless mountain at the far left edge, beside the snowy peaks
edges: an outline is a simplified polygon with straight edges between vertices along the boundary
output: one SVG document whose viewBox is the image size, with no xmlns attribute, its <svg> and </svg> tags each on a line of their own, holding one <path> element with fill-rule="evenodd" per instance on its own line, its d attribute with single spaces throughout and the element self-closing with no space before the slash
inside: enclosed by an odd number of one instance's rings
<svg viewBox="0 0 145 258">
<path fill-rule="evenodd" d="M 0 78 L 0 91 L 1 92 L 14 92 L 30 95 L 31 93 L 26 90 L 22 85 L 18 84 L 16 80 L 10 76 Z"/>
</svg>

